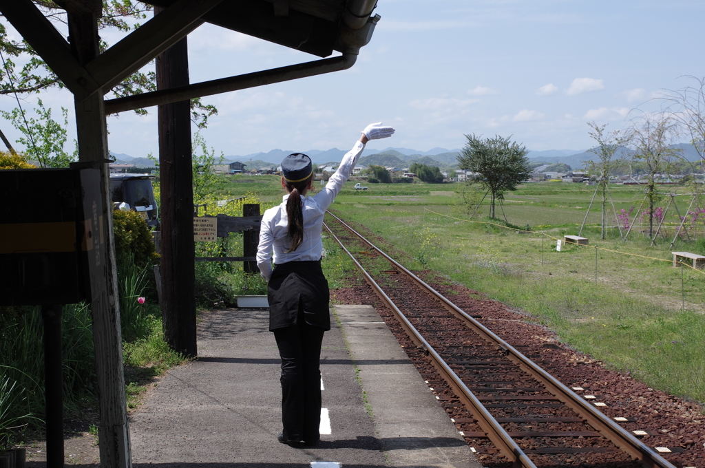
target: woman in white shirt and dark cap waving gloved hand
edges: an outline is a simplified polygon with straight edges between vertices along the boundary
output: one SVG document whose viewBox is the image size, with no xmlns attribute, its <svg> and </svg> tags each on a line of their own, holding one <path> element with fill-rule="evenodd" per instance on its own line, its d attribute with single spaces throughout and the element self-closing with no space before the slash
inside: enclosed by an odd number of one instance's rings
<svg viewBox="0 0 705 468">
<path fill-rule="evenodd" d="M 290 154 L 281 163 L 283 202 L 262 217 L 257 266 L 269 283 L 269 331 L 281 356 L 281 413 L 278 441 L 292 447 L 320 438 L 321 343 L 331 329 L 329 290 L 321 270 L 321 228 L 326 209 L 352 173 L 369 140 L 390 137 L 391 127 L 367 125 L 360 140 L 343 156 L 326 187 L 312 197 L 311 159 Z M 274 253 L 274 268 L 271 260 Z"/>
</svg>

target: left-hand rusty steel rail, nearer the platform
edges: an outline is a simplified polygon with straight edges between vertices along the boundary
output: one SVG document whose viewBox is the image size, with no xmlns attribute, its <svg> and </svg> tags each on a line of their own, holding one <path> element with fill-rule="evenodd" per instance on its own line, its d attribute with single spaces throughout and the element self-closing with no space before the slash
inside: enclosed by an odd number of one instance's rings
<svg viewBox="0 0 705 468">
<path fill-rule="evenodd" d="M 362 272 L 365 281 L 372 286 L 375 293 L 381 297 L 381 299 L 386 302 L 388 307 L 393 310 L 397 319 L 399 320 L 404 331 L 412 338 L 414 343 L 418 347 L 423 347 L 424 351 L 428 353 L 431 357 L 431 362 L 434 367 L 439 371 L 439 374 L 449 383 L 450 388 L 453 389 L 455 395 L 458 395 L 458 399 L 466 407 L 473 409 L 473 415 L 477 419 L 477 424 L 482 428 L 482 430 L 487 434 L 489 440 L 494 443 L 495 447 L 502 452 L 502 455 L 508 458 L 515 468 L 537 468 L 534 462 L 525 454 L 525 452 L 517 445 L 513 438 L 504 430 L 504 428 L 499 424 L 496 419 L 490 414 L 489 411 L 482 405 L 482 403 L 475 397 L 475 395 L 465 386 L 465 383 L 460 380 L 458 374 L 455 374 L 453 369 L 450 369 L 448 364 L 443 361 L 443 358 L 434 350 L 434 348 L 425 340 L 422 335 L 417 331 L 415 326 L 406 318 L 406 316 L 396 307 L 396 304 L 391 300 L 391 298 L 384 293 L 384 290 L 374 281 L 372 276 L 365 271 L 360 262 L 353 257 L 353 254 L 343 245 L 340 239 L 333 233 L 331 228 L 329 228 L 325 223 L 324 226 L 333 239 L 338 242 L 338 245 L 345 251 L 346 254 L 350 256 L 355 262 L 355 266 Z"/>
</svg>

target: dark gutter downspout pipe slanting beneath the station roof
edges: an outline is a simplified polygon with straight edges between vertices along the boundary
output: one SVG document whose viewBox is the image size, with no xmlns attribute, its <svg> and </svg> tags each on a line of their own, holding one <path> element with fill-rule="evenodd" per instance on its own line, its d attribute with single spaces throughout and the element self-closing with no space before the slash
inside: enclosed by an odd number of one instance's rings
<svg viewBox="0 0 705 468">
<path fill-rule="evenodd" d="M 352 3 L 357 4 L 366 1 L 369 2 L 369 0 L 355 0 Z M 374 8 L 374 6 L 372 6 L 372 8 Z M 370 8 L 370 11 L 372 8 Z M 357 30 L 351 30 L 345 25 L 341 25 L 335 49 L 341 51 L 343 53 L 342 56 L 298 63 L 297 65 L 281 68 L 272 68 L 271 70 L 262 70 L 245 75 L 221 78 L 219 80 L 204 81 L 193 85 L 170 88 L 168 90 L 145 92 L 118 99 L 106 99 L 105 111 L 109 114 L 131 111 L 134 109 L 142 109 L 143 107 L 159 106 L 161 104 L 186 101 L 196 97 L 245 90 L 251 87 L 271 85 L 288 80 L 298 80 L 299 78 L 347 70 L 357 61 L 357 54 L 360 52 L 360 47 L 367 45 L 369 40 L 372 39 L 374 27 L 379 19 L 379 15 L 375 15 L 372 18 L 364 18 L 364 25 Z"/>
</svg>

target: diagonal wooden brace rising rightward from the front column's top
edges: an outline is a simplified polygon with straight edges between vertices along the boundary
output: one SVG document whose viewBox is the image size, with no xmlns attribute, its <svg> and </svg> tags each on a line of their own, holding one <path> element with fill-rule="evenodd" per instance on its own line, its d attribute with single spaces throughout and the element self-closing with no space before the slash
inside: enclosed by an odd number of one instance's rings
<svg viewBox="0 0 705 468">
<path fill-rule="evenodd" d="M 178 0 L 87 64 L 107 92 L 152 58 L 199 27 L 200 18 L 222 0 Z"/>
</svg>

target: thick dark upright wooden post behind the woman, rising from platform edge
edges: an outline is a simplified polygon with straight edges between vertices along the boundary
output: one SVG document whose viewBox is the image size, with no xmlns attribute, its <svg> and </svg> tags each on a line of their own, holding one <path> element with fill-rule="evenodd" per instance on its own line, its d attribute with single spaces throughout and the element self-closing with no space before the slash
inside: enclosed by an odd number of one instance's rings
<svg viewBox="0 0 705 468">
<path fill-rule="evenodd" d="M 155 7 L 158 14 L 163 8 Z M 157 89 L 188 85 L 184 37 L 157 56 Z M 173 350 L 197 355 L 190 101 L 159 106 L 161 314 Z"/>
</svg>

